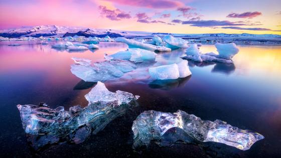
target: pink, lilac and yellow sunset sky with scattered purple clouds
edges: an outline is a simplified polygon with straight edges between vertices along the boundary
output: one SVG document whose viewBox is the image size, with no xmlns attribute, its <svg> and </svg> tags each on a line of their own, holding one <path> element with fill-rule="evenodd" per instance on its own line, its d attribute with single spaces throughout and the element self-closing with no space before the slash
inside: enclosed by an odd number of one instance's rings
<svg viewBox="0 0 281 158">
<path fill-rule="evenodd" d="M 38 25 L 280 35 L 281 1 L 0 0 L 0 29 Z"/>
</svg>

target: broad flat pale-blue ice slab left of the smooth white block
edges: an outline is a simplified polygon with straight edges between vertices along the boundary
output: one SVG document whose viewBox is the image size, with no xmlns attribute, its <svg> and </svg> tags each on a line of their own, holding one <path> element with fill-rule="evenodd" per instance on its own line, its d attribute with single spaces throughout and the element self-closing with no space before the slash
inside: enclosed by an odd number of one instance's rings
<svg viewBox="0 0 281 158">
<path fill-rule="evenodd" d="M 72 58 L 71 72 L 78 78 L 88 81 L 106 81 L 123 76 L 136 68 L 135 64 L 125 60 L 107 60 L 90 63 L 88 59 Z"/>
</svg>

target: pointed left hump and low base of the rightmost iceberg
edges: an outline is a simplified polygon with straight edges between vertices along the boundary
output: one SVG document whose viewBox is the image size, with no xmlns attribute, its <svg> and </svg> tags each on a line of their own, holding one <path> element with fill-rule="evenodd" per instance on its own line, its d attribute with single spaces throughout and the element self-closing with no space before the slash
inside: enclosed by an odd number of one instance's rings
<svg viewBox="0 0 281 158">
<path fill-rule="evenodd" d="M 197 44 L 191 45 L 186 50 L 186 54 L 187 54 L 187 56 L 182 57 L 183 59 L 192 60 L 195 62 L 233 63 L 233 61 L 231 59 L 226 59 L 226 56 L 216 55 L 215 53 L 212 53 L 212 52 L 206 53 L 206 54 L 201 54 L 201 52 L 199 51 L 199 49 L 197 47 Z"/>
</svg>

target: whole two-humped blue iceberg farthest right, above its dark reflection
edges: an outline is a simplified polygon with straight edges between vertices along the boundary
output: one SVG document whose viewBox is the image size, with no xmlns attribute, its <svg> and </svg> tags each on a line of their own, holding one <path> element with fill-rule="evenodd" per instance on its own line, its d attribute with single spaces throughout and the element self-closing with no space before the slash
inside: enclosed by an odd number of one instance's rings
<svg viewBox="0 0 281 158">
<path fill-rule="evenodd" d="M 183 59 L 193 60 L 195 62 L 221 62 L 221 63 L 233 63 L 232 57 L 239 52 L 239 49 L 234 43 L 220 44 L 216 43 L 218 55 L 215 53 L 202 54 L 197 44 L 191 45 L 187 51 L 186 56 Z"/>
</svg>

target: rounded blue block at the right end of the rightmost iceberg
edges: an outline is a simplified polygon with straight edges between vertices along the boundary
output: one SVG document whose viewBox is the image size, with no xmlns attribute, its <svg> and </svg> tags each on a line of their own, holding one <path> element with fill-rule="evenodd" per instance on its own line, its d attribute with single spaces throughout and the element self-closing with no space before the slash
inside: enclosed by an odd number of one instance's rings
<svg viewBox="0 0 281 158">
<path fill-rule="evenodd" d="M 239 49 L 236 47 L 235 43 L 216 43 L 215 46 L 219 52 L 219 55 L 215 56 L 217 58 L 232 59 L 232 57 L 239 52 Z"/>
</svg>

